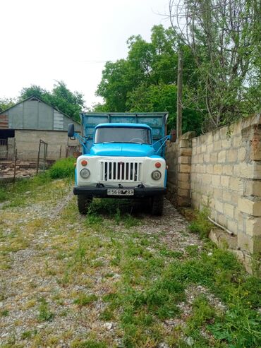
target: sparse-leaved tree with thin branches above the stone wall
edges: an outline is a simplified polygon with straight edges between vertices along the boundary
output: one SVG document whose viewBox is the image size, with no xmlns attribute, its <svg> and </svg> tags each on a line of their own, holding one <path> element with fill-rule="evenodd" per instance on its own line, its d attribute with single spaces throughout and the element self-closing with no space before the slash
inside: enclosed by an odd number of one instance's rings
<svg viewBox="0 0 261 348">
<path fill-rule="evenodd" d="M 198 68 L 191 97 L 207 109 L 205 130 L 260 110 L 260 0 L 171 0 L 169 8 Z"/>
</svg>

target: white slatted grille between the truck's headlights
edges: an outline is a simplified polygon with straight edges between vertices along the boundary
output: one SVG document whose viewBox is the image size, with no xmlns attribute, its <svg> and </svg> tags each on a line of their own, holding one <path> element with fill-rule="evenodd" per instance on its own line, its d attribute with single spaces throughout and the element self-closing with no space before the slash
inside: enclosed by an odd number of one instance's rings
<svg viewBox="0 0 261 348">
<path fill-rule="evenodd" d="M 140 162 L 102 161 L 102 181 L 140 181 Z"/>
</svg>

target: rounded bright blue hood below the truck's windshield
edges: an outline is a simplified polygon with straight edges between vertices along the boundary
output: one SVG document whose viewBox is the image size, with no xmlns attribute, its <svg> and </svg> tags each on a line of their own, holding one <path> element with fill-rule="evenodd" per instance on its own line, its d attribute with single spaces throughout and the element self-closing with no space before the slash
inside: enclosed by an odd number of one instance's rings
<svg viewBox="0 0 261 348">
<path fill-rule="evenodd" d="M 152 145 L 146 144 L 95 144 L 90 149 L 91 155 L 96 156 L 130 156 L 130 157 L 146 157 L 155 155 Z"/>
</svg>

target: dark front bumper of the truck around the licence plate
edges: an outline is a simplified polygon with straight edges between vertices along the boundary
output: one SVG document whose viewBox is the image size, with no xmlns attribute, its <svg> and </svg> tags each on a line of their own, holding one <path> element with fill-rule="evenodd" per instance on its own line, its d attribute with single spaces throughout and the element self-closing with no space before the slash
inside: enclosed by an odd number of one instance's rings
<svg viewBox="0 0 261 348">
<path fill-rule="evenodd" d="M 147 197 L 154 197 L 154 196 L 162 196 L 166 194 L 166 188 L 152 188 L 152 187 L 123 187 L 123 189 L 128 190 L 132 189 L 134 190 L 133 196 L 111 196 L 107 195 L 107 187 L 78 187 L 74 186 L 73 193 L 75 195 L 87 195 L 87 196 L 94 196 L 94 197 L 100 197 L 100 198 L 147 198 Z"/>
</svg>

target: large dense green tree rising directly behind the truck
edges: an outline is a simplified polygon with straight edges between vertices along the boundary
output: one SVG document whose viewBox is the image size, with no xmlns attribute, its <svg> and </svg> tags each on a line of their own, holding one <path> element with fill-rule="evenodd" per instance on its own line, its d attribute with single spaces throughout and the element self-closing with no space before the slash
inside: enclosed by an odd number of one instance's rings
<svg viewBox="0 0 261 348">
<path fill-rule="evenodd" d="M 105 103 L 96 112 L 169 112 L 169 129 L 176 125 L 176 79 L 178 37 L 174 30 L 162 25 L 152 28 L 151 42 L 138 36 L 128 40 L 128 57 L 115 63 L 107 62 L 97 95 Z M 183 47 L 184 85 L 188 90 L 197 86 L 197 71 L 190 50 Z M 202 115 L 191 105 L 183 109 L 183 131 L 200 133 Z"/>
</svg>

